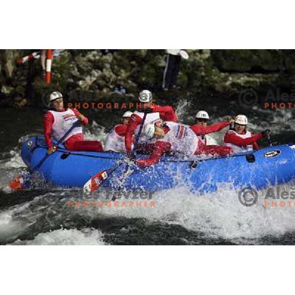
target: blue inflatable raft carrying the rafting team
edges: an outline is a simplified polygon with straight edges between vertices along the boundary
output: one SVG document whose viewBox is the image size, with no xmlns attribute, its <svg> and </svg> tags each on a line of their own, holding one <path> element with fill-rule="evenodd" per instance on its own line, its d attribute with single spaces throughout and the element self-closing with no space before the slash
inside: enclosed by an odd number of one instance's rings
<svg viewBox="0 0 295 295">
<path fill-rule="evenodd" d="M 23 161 L 32 170 L 44 157 L 43 136 L 30 138 L 22 147 Z M 144 156 L 141 156 L 144 157 Z M 90 177 L 122 161 L 103 187 L 156 191 L 188 186 L 196 191 L 214 191 L 220 185 L 233 188 L 292 183 L 295 180 L 295 145 L 267 147 L 226 157 L 179 160 L 163 156 L 152 167 L 130 169 L 125 156 L 109 152 L 68 151 L 59 145 L 38 169 L 46 182 L 58 187 L 83 187 Z M 128 168 L 129 167 L 129 168 Z"/>
</svg>

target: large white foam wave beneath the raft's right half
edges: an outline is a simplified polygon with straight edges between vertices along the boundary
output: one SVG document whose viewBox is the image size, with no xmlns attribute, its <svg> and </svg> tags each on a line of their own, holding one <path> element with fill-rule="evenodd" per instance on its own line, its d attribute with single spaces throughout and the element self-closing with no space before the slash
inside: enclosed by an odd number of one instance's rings
<svg viewBox="0 0 295 295">
<path fill-rule="evenodd" d="M 286 186 L 286 190 L 290 191 L 290 186 Z M 257 238 L 294 231 L 295 207 L 264 207 L 263 192 L 259 194 L 256 205 L 244 207 L 238 201 L 238 191 L 231 189 L 200 196 L 185 188 L 177 188 L 156 192 L 152 198 L 154 207 L 128 207 L 127 202 L 127 207 L 121 207 L 124 200 L 119 200 L 118 207 L 101 207 L 99 212 L 107 216 L 177 224 L 208 237 L 222 237 L 239 243 L 256 243 Z"/>
</svg>

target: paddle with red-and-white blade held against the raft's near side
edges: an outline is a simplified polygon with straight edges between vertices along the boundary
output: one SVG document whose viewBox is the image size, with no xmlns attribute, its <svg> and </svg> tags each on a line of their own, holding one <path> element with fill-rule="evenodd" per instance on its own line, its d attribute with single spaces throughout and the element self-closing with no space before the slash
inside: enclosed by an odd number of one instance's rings
<svg viewBox="0 0 295 295">
<path fill-rule="evenodd" d="M 147 118 L 147 112 L 145 112 L 145 114 L 144 114 L 144 118 L 142 119 L 142 123 L 140 125 L 140 128 L 139 128 L 139 131 L 138 131 L 138 134 L 137 134 L 133 149 L 131 151 L 131 158 L 132 159 L 134 159 L 134 157 L 135 157 L 136 147 L 138 145 L 139 137 L 140 137 L 140 135 L 142 133 L 146 118 Z M 84 184 L 84 187 L 83 187 L 84 192 L 85 193 L 92 193 L 92 192 L 96 191 L 102 185 L 104 180 L 106 180 L 123 163 L 124 163 L 124 161 L 120 162 L 120 163 L 117 163 L 115 166 L 113 166 L 111 168 L 102 170 L 102 171 L 98 172 L 97 174 L 95 174 L 93 177 L 91 177 Z"/>
</svg>

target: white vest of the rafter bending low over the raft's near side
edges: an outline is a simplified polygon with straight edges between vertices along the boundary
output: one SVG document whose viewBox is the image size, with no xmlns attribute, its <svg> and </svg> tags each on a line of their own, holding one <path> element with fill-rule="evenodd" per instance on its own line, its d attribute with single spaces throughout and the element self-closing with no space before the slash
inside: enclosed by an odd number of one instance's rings
<svg viewBox="0 0 295 295">
<path fill-rule="evenodd" d="M 191 157 L 198 148 L 198 138 L 192 129 L 187 125 L 165 122 L 170 129 L 163 138 L 158 141 L 171 144 L 172 151 L 183 157 Z"/>
</svg>

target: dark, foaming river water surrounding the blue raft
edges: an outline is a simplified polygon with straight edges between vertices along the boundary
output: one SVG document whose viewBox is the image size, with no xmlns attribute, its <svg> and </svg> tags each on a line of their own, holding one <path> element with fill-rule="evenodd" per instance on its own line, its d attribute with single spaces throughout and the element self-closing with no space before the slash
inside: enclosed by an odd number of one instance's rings
<svg viewBox="0 0 295 295">
<path fill-rule="evenodd" d="M 200 109 L 209 112 L 211 122 L 244 113 L 254 133 L 270 128 L 273 144 L 294 142 L 294 110 L 243 110 L 229 98 L 183 99 L 177 104 L 178 118 L 192 123 Z M 87 139 L 104 141 L 118 119 L 117 113 L 82 113 L 91 119 L 85 129 Z M 200 196 L 179 187 L 156 192 L 154 207 L 101 208 L 67 207 L 65 200 L 79 197 L 78 189 L 37 187 L 11 192 L 8 181 L 25 167 L 22 142 L 42 134 L 41 114 L 34 108 L 0 109 L 0 244 L 295 244 L 295 207 L 266 208 L 262 200 L 243 207 L 238 192 L 226 188 Z M 214 134 L 212 142 L 220 143 L 223 134 Z M 49 202 L 48 197 L 58 201 Z"/>
</svg>

